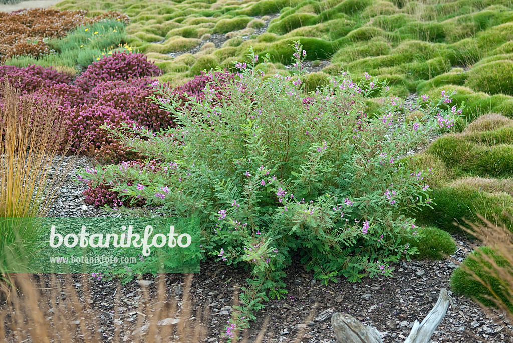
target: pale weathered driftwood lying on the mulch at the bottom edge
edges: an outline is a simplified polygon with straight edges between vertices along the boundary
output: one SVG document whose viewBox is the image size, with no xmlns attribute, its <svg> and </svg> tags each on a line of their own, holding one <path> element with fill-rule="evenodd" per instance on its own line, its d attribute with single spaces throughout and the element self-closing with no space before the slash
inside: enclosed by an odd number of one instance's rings
<svg viewBox="0 0 513 343">
<path fill-rule="evenodd" d="M 453 305 L 447 290 L 442 288 L 435 307 L 421 324 L 418 320 L 413 323 L 413 328 L 404 343 L 428 343 L 445 317 L 449 303 Z M 334 313 L 331 316 L 331 326 L 340 343 L 383 343 L 376 328 L 365 327 L 360 321 L 345 313 Z"/>
</svg>

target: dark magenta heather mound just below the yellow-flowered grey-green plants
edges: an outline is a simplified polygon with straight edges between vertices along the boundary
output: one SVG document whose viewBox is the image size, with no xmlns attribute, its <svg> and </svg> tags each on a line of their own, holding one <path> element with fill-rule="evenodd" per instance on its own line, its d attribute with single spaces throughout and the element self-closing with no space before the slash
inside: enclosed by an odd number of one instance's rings
<svg viewBox="0 0 513 343">
<path fill-rule="evenodd" d="M 128 80 L 136 77 L 158 76 L 161 70 L 145 54 L 114 52 L 87 67 L 75 80 L 75 86 L 84 91 L 107 81 Z"/>
</svg>

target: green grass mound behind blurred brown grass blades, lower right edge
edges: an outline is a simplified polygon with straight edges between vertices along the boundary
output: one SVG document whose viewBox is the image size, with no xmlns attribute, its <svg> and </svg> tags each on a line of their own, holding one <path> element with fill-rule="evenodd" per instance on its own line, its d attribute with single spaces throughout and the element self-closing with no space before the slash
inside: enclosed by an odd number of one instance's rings
<svg viewBox="0 0 513 343">
<path fill-rule="evenodd" d="M 512 294 L 510 293 L 510 289 L 506 284 L 506 281 L 500 279 L 495 273 L 491 273 L 489 271 L 492 268 L 492 265 L 483 257 L 483 255 L 495 261 L 498 267 L 506 268 L 510 272 L 511 267 L 501 254 L 490 247 L 478 248 L 477 251 L 468 255 L 462 265 L 452 273 L 450 277 L 450 288 L 452 292 L 457 295 L 464 295 L 466 297 L 476 299 L 484 306 L 496 307 L 494 300 L 492 300 L 493 296 L 491 292 L 487 287 L 473 278 L 471 273 L 465 270 L 468 269 L 485 281 L 497 297 L 504 302 L 509 311 L 513 312 L 513 304 L 509 301 Z"/>
</svg>

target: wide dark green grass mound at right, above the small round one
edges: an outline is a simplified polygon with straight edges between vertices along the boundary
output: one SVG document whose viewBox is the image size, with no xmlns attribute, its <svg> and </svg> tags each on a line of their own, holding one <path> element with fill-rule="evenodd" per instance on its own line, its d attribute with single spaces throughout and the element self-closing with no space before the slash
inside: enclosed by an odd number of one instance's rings
<svg viewBox="0 0 513 343">
<path fill-rule="evenodd" d="M 462 232 L 453 223 L 465 225 L 482 223 L 478 214 L 491 223 L 504 223 L 513 230 L 513 222 L 506 213 L 513 213 L 513 197 L 505 193 L 484 192 L 472 185 L 458 185 L 433 190 L 432 209 L 418 212 L 417 220 L 421 224 L 435 225 L 449 233 Z"/>
</svg>

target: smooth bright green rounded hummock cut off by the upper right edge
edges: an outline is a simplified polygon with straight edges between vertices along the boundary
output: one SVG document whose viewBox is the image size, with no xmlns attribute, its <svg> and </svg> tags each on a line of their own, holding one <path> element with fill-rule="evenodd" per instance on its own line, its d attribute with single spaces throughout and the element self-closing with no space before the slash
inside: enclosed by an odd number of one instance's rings
<svg viewBox="0 0 513 343">
<path fill-rule="evenodd" d="M 488 94 L 513 95 L 513 61 L 498 60 L 473 67 L 468 72 L 466 84 Z"/>
</svg>

